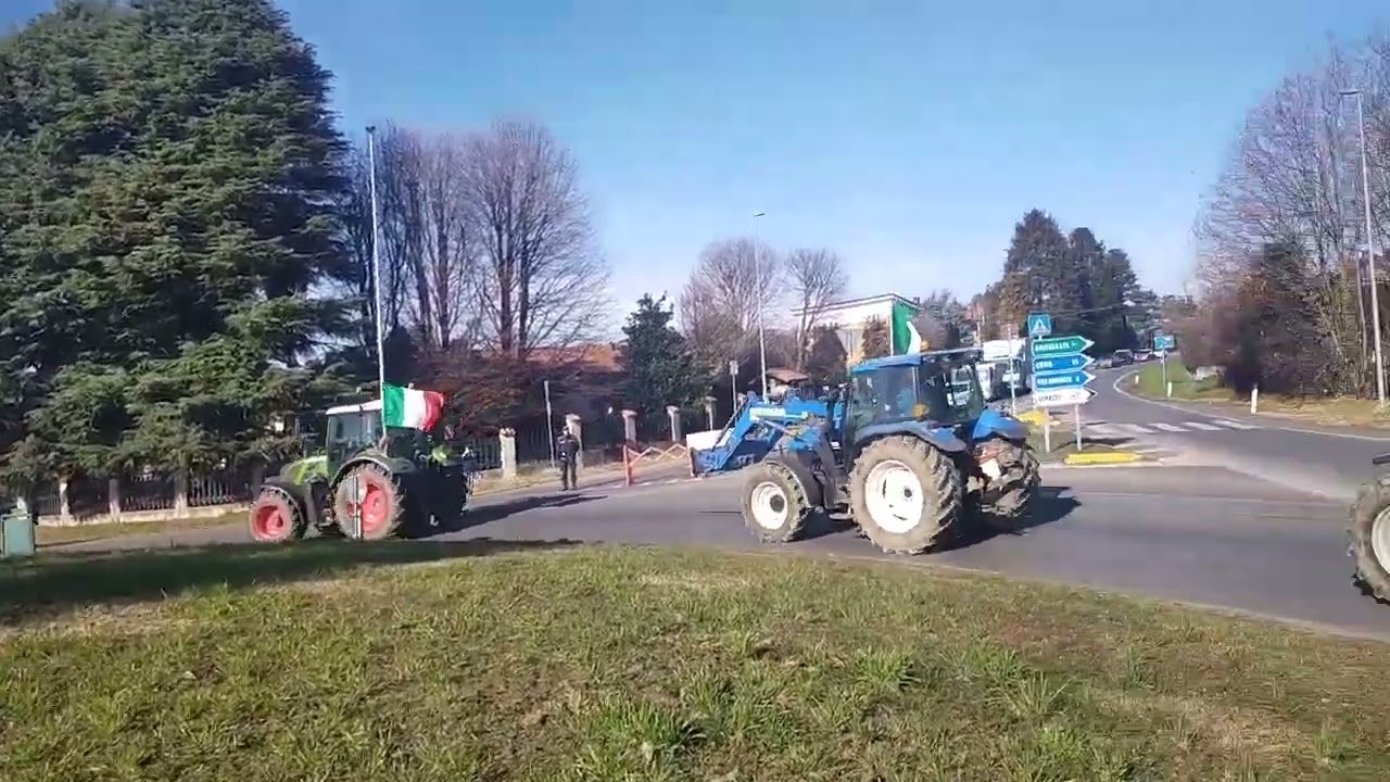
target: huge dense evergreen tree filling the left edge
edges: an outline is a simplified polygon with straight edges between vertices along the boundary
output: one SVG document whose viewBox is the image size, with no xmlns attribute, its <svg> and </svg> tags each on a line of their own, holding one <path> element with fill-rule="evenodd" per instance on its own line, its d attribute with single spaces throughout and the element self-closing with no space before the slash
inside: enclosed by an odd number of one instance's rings
<svg viewBox="0 0 1390 782">
<path fill-rule="evenodd" d="M 65 3 L 0 39 L 0 374 L 15 477 L 275 448 L 341 385 L 329 75 L 268 0 Z"/>
</svg>

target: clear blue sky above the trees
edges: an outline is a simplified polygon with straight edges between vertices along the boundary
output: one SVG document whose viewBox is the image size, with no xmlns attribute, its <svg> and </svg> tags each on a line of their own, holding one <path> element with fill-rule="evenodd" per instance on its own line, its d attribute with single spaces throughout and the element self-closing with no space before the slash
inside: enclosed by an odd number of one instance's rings
<svg viewBox="0 0 1390 782">
<path fill-rule="evenodd" d="M 35 0 L 21 6 L 40 7 Z M 1244 111 L 1383 0 L 279 0 L 371 121 L 542 120 L 623 309 L 710 239 L 828 246 L 855 294 L 962 298 L 1031 207 L 1180 291 Z"/>
</svg>

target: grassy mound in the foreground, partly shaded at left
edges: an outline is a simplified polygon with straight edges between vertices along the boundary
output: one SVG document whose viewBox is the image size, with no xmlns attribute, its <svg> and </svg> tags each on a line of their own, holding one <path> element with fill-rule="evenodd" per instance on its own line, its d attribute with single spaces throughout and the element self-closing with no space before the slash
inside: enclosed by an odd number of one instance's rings
<svg viewBox="0 0 1390 782">
<path fill-rule="evenodd" d="M 563 543 L 0 573 L 7 782 L 1390 778 L 1390 646 L 1081 590 Z"/>
</svg>

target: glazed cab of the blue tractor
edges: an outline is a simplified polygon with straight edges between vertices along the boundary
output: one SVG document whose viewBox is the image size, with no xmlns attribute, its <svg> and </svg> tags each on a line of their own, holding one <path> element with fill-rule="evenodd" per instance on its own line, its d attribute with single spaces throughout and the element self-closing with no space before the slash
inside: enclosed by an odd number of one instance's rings
<svg viewBox="0 0 1390 782">
<path fill-rule="evenodd" d="M 849 369 L 844 441 L 870 426 L 919 422 L 955 427 L 984 412 L 973 348 L 869 359 Z"/>
</svg>

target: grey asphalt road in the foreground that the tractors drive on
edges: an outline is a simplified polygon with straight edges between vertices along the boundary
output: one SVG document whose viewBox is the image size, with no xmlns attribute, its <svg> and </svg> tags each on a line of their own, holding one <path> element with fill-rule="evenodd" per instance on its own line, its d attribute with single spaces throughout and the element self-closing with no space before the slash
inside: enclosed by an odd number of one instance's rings
<svg viewBox="0 0 1390 782">
<path fill-rule="evenodd" d="M 755 548 L 738 515 L 738 487 L 739 476 L 730 474 L 491 498 L 480 502 L 474 526 L 439 537 Z M 1341 504 L 1209 468 L 1058 468 L 1045 472 L 1045 487 L 1037 526 L 1020 536 L 910 559 L 883 555 L 845 530 L 821 530 L 787 548 L 1081 583 L 1390 639 L 1390 607 L 1362 597 L 1350 582 Z M 246 540 L 243 529 L 222 527 L 120 545 Z"/>
</svg>

